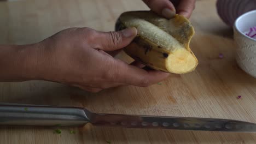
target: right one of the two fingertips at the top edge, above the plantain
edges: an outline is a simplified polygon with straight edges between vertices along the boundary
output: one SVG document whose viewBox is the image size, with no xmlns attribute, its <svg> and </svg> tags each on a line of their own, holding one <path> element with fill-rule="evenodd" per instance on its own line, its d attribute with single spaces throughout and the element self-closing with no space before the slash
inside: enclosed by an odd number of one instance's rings
<svg viewBox="0 0 256 144">
<path fill-rule="evenodd" d="M 181 0 L 177 8 L 177 13 L 189 18 L 195 8 L 196 0 Z"/>
</svg>

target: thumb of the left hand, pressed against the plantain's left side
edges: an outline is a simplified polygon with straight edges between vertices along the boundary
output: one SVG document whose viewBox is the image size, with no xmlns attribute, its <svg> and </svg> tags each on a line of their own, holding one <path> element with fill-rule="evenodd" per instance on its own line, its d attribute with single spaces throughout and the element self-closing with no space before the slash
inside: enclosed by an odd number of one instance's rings
<svg viewBox="0 0 256 144">
<path fill-rule="evenodd" d="M 100 33 L 100 47 L 103 51 L 114 51 L 121 49 L 131 43 L 133 38 L 137 35 L 135 27 L 126 28 L 118 32 L 101 32 Z"/>
</svg>

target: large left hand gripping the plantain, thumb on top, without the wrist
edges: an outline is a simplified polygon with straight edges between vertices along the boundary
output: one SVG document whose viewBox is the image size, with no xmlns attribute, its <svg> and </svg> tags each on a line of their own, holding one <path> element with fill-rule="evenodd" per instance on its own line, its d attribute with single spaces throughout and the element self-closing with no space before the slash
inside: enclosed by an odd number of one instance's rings
<svg viewBox="0 0 256 144">
<path fill-rule="evenodd" d="M 166 79 L 167 73 L 143 70 L 105 52 L 125 47 L 136 34 L 136 28 L 119 32 L 90 28 L 61 31 L 37 44 L 39 77 L 90 92 L 122 85 L 147 87 Z"/>
</svg>

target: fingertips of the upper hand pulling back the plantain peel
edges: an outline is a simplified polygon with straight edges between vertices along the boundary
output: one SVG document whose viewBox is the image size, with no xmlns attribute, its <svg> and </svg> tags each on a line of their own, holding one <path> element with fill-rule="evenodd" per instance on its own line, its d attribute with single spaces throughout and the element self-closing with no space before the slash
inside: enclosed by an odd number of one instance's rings
<svg viewBox="0 0 256 144">
<path fill-rule="evenodd" d="M 195 8 L 196 0 L 143 0 L 143 2 L 155 13 L 171 19 L 176 12 L 189 18 Z"/>
</svg>

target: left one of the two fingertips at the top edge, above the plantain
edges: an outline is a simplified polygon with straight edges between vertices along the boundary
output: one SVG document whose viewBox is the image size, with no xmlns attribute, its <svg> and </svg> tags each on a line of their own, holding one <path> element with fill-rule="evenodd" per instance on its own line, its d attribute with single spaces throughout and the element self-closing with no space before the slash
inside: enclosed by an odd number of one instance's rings
<svg viewBox="0 0 256 144">
<path fill-rule="evenodd" d="M 171 19 L 176 14 L 173 4 L 169 0 L 143 0 L 155 13 Z"/>
</svg>

